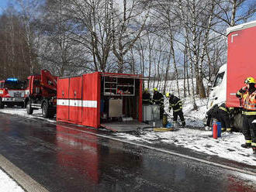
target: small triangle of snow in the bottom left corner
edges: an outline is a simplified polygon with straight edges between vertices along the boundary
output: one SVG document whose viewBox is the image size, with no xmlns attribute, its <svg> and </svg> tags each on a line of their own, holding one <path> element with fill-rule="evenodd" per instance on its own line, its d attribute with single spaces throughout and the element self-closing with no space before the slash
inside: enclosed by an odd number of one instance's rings
<svg viewBox="0 0 256 192">
<path fill-rule="evenodd" d="M 24 192 L 24 190 L 0 169 L 0 192 Z"/>
</svg>

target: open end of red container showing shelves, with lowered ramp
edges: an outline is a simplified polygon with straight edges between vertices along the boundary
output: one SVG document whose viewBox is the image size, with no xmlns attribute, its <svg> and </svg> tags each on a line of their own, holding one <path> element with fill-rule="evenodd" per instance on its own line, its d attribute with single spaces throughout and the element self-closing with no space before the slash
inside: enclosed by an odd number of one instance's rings
<svg viewBox="0 0 256 192">
<path fill-rule="evenodd" d="M 114 132 L 147 127 L 142 122 L 142 79 L 136 75 L 102 74 L 101 126 Z"/>
</svg>

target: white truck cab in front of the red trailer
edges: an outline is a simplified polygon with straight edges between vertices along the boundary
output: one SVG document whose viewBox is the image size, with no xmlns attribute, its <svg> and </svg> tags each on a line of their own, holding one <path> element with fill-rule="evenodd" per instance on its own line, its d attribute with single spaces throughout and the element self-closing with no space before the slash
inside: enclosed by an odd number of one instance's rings
<svg viewBox="0 0 256 192">
<path fill-rule="evenodd" d="M 213 105 L 221 105 L 226 102 L 227 95 L 227 64 L 220 67 L 220 70 L 214 80 L 213 86 L 209 94 L 207 108 L 212 108 Z"/>
</svg>

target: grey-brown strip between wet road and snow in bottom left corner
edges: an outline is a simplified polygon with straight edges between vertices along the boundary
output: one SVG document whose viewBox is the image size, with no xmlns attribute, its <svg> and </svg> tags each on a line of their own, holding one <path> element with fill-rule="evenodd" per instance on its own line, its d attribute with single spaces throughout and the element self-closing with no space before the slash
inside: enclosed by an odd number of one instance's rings
<svg viewBox="0 0 256 192">
<path fill-rule="evenodd" d="M 33 180 L 29 175 L 24 173 L 19 167 L 0 154 L 0 166 L 6 173 L 9 174 L 19 185 L 28 192 L 48 192 L 44 187 Z"/>
</svg>

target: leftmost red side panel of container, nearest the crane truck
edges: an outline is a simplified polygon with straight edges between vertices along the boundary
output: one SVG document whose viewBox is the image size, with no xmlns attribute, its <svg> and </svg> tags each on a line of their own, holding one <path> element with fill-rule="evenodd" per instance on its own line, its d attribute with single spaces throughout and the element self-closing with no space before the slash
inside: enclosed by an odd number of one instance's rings
<svg viewBox="0 0 256 192">
<path fill-rule="evenodd" d="M 58 79 L 57 81 L 57 119 L 68 121 L 68 99 L 69 78 Z"/>
</svg>

